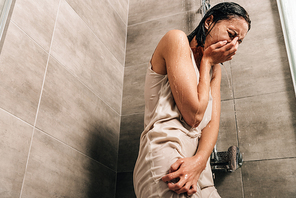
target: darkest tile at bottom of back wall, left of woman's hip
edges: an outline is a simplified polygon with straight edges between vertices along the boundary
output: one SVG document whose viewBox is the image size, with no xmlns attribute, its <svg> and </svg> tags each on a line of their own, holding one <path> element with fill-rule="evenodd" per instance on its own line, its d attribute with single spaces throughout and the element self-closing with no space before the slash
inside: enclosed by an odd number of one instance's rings
<svg viewBox="0 0 296 198">
<path fill-rule="evenodd" d="M 133 186 L 133 173 L 117 173 L 116 198 L 136 198 Z"/>
</svg>

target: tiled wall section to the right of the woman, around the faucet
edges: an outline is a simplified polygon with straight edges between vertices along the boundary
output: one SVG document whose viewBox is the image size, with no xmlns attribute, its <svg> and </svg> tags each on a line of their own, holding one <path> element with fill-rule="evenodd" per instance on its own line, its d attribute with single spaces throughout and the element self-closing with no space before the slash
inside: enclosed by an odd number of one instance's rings
<svg viewBox="0 0 296 198">
<path fill-rule="evenodd" d="M 249 12 L 252 27 L 225 64 L 230 86 L 224 80 L 217 147 L 237 144 L 245 162 L 215 182 L 222 197 L 295 197 L 296 100 L 277 3 L 235 2 Z"/>
</svg>

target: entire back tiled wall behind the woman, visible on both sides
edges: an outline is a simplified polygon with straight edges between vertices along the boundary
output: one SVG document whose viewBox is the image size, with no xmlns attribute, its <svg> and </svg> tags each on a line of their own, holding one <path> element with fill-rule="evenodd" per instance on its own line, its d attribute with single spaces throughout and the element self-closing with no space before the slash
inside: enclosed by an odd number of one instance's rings
<svg viewBox="0 0 296 198">
<path fill-rule="evenodd" d="M 211 0 L 211 5 L 223 2 Z M 221 197 L 295 197 L 296 100 L 276 0 L 235 0 L 252 28 L 224 64 L 218 151 L 241 149 L 244 165 L 217 173 Z M 200 1 L 130 0 L 116 197 L 135 197 L 132 171 L 143 130 L 144 81 L 150 57 L 171 29 L 191 32 Z"/>
</svg>

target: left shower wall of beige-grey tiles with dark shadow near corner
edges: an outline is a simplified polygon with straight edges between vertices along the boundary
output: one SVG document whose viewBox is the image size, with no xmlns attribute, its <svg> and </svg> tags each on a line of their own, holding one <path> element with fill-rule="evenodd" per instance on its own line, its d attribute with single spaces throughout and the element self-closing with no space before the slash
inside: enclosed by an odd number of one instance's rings
<svg viewBox="0 0 296 198">
<path fill-rule="evenodd" d="M 128 0 L 17 0 L 0 56 L 0 197 L 114 197 Z"/>
</svg>

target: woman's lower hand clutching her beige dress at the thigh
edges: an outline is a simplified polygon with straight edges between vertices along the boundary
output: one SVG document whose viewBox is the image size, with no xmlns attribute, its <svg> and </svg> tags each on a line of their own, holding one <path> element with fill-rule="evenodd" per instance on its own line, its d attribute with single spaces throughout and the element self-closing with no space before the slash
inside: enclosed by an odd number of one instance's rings
<svg viewBox="0 0 296 198">
<path fill-rule="evenodd" d="M 206 167 L 206 162 L 207 160 L 198 155 L 178 159 L 171 166 L 169 174 L 163 176 L 162 180 L 168 183 L 170 190 L 178 194 L 192 195 L 197 191 L 197 181 Z"/>
</svg>

